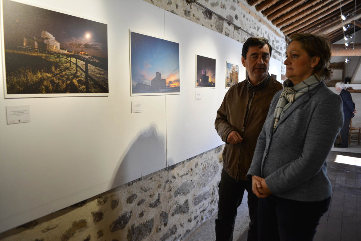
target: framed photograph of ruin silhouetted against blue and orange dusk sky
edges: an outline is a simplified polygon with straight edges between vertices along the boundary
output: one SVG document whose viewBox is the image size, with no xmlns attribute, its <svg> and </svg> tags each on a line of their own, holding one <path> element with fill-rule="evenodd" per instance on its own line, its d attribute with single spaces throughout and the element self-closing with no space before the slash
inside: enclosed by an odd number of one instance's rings
<svg viewBox="0 0 361 241">
<path fill-rule="evenodd" d="M 179 43 L 129 30 L 131 96 L 180 92 Z"/>
</svg>

